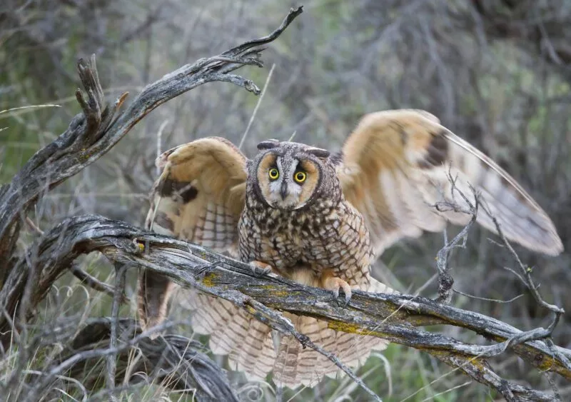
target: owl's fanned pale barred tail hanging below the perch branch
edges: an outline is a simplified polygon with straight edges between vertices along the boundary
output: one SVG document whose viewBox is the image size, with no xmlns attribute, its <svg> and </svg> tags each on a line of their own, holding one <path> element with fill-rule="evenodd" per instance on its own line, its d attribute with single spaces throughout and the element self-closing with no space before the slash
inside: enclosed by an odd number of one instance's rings
<svg viewBox="0 0 571 402">
<path fill-rule="evenodd" d="M 371 278 L 368 291 L 394 293 L 383 283 Z M 342 372 L 325 356 L 311 348 L 303 348 L 293 336 L 281 336 L 274 342 L 272 329 L 250 313 L 221 298 L 193 291 L 188 308 L 194 310 L 192 326 L 201 334 L 211 334 L 213 353 L 228 355 L 230 368 L 244 371 L 249 380 L 264 379 L 273 371 L 273 381 L 281 386 L 313 387 L 324 376 Z M 372 351 L 382 351 L 388 341 L 375 336 L 334 331 L 326 321 L 285 313 L 298 332 L 308 336 L 325 351 L 334 353 L 350 367 L 363 364 Z M 277 343 L 277 344 L 276 344 Z"/>
</svg>

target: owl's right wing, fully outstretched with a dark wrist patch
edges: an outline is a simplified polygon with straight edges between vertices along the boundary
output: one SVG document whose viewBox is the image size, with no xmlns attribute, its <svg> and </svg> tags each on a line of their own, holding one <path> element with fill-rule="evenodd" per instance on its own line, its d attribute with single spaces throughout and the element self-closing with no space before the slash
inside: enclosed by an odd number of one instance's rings
<svg viewBox="0 0 571 402">
<path fill-rule="evenodd" d="M 377 255 L 400 238 L 443 231 L 447 221 L 468 223 L 470 214 L 435 204 L 444 201 L 467 209 L 467 200 L 475 201 L 470 186 L 480 192 L 482 205 L 510 241 L 550 255 L 563 250 L 552 221 L 525 190 L 428 112 L 364 116 L 336 163 L 343 194 L 365 217 Z M 477 223 L 495 232 L 482 208 Z"/>
</svg>

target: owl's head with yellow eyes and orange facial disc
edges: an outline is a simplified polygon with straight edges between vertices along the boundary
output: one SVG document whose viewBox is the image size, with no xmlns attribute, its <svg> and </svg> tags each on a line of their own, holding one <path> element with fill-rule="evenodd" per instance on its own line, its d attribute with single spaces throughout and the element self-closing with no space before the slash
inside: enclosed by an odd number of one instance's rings
<svg viewBox="0 0 571 402">
<path fill-rule="evenodd" d="M 249 188 L 272 208 L 300 209 L 338 187 L 325 149 L 269 140 L 258 144 L 258 151 L 248 166 Z"/>
</svg>

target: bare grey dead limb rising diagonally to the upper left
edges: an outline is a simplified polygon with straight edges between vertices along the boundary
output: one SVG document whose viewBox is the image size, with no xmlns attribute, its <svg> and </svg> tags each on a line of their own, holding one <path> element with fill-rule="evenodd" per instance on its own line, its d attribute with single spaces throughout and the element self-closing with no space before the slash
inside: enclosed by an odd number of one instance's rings
<svg viewBox="0 0 571 402">
<path fill-rule="evenodd" d="M 89 61 L 80 59 L 77 71 L 84 91 L 78 89 L 76 98 L 83 113 L 74 117 L 69 128 L 58 139 L 36 152 L 10 184 L 0 187 L 0 283 L 11 271 L 11 259 L 21 222 L 32 203 L 46 191 L 101 158 L 119 140 L 161 104 L 186 91 L 213 81 L 231 82 L 253 94 L 260 94 L 258 86 L 241 76 L 230 74 L 244 65 L 262 66 L 264 44 L 278 38 L 288 25 L 301 14 L 302 8 L 291 9 L 281 26 L 272 34 L 225 51 L 219 56 L 186 64 L 171 74 L 146 86 L 125 111 L 119 109 L 128 93 L 113 103 L 103 98 L 95 56 Z M 11 261 L 11 262 L 8 262 Z"/>
</svg>

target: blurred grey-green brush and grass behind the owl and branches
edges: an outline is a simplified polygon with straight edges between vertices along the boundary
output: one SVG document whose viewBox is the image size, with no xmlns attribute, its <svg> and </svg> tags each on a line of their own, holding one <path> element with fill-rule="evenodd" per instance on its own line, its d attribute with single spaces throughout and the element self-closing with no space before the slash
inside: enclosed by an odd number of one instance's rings
<svg viewBox="0 0 571 402">
<path fill-rule="evenodd" d="M 178 66 L 268 34 L 290 6 L 300 4 L 305 12 L 269 46 L 266 66 L 239 71 L 262 86 L 275 64 L 246 139 L 246 154 L 253 155 L 261 139 L 286 140 L 294 132 L 295 141 L 338 149 L 367 112 L 425 109 L 515 176 L 555 221 L 566 250 L 571 248 L 569 0 L 4 0 L 0 181 L 10 181 L 79 113 L 74 96 L 78 58 L 96 54 L 110 98 L 123 91 L 136 94 Z M 99 213 L 142 225 L 158 152 L 203 136 L 238 144 L 257 101 L 221 83 L 183 94 L 153 111 L 96 164 L 51 191 L 31 213 L 32 220 L 46 229 L 65 216 Z M 14 109 L 34 105 L 59 107 Z M 547 311 L 504 268 L 514 262 L 490 236 L 474 228 L 468 247 L 454 253 L 455 288 L 483 298 L 523 296 L 511 303 L 455 296 L 454 305 L 521 329 L 547 325 Z M 24 236 L 20 246 L 29 241 Z M 400 243 L 385 252 L 374 275 L 400 291 L 433 297 L 434 258 L 442 245 L 441 235 Z M 570 254 L 545 258 L 517 251 L 535 268 L 542 296 L 571 311 Z M 89 256 L 82 264 L 110 280 L 106 261 Z M 83 288 L 71 275 L 59 283 L 44 306 L 46 322 L 62 314 L 76 315 L 78 323 L 85 316 L 109 314 L 107 296 Z M 134 314 L 134 273 L 127 291 L 133 303 L 123 308 L 125 315 Z M 191 333 L 190 328 L 178 331 Z M 447 331 L 461 336 L 459 330 Z M 555 343 L 571 346 L 570 316 L 557 327 Z M 383 401 L 495 398 L 418 351 L 391 346 L 384 356 L 370 358 L 359 371 Z M 530 370 L 510 353 L 496 358 L 495 365 L 507 378 L 550 388 L 548 374 Z M 6 367 L 2 371 L 6 375 Z M 248 384 L 240 375 L 232 381 L 245 400 L 275 398 L 272 383 Z M 571 386 L 559 385 L 569 400 Z M 255 392 L 257 386 L 261 392 Z M 73 389 L 66 392 L 74 394 Z M 131 400 L 169 397 L 161 387 L 136 392 Z M 285 391 L 283 400 L 367 398 L 347 379 L 330 379 L 313 389 Z"/>
</svg>

